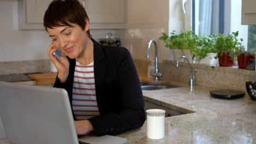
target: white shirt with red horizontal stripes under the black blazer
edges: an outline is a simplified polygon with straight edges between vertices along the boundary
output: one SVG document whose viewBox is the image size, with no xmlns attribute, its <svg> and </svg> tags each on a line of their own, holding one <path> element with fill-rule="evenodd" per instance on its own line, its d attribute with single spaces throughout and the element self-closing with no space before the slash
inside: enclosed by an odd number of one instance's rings
<svg viewBox="0 0 256 144">
<path fill-rule="evenodd" d="M 72 108 L 78 120 L 100 115 L 96 100 L 94 62 L 88 65 L 75 62 Z"/>
</svg>

